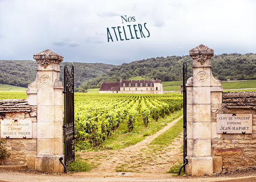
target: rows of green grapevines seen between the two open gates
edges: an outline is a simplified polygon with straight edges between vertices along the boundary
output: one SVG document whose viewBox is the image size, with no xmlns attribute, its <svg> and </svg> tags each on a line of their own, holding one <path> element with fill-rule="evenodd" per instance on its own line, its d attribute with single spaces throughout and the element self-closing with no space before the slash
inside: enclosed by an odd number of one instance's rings
<svg viewBox="0 0 256 182">
<path fill-rule="evenodd" d="M 127 122 L 129 132 L 134 128 L 138 114 L 145 126 L 150 118 L 169 115 L 182 108 L 179 94 L 84 94 L 75 93 L 75 138 L 82 148 L 99 146 Z"/>
</svg>

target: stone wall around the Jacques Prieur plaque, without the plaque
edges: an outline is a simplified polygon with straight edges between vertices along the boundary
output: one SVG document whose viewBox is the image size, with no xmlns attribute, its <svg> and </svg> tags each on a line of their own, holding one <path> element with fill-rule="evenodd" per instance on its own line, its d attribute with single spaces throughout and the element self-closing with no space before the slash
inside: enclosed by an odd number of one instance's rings
<svg viewBox="0 0 256 182">
<path fill-rule="evenodd" d="M 27 99 L 0 100 L 1 120 L 32 120 L 32 138 L 19 139 L 8 138 L 3 145 L 7 148 L 9 157 L 0 160 L 2 165 L 27 165 L 29 169 L 35 169 L 35 157 L 37 154 L 37 106 L 29 106 Z M 0 128 L 1 131 L 1 128 Z"/>
</svg>

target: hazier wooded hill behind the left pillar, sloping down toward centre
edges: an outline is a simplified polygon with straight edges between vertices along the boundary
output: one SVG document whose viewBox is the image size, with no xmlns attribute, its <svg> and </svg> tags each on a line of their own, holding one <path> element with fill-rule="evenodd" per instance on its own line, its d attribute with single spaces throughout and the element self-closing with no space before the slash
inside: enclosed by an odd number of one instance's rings
<svg viewBox="0 0 256 182">
<path fill-rule="evenodd" d="M 63 69 L 67 65 L 71 69 L 72 63 L 61 63 L 60 80 L 63 81 Z M 108 72 L 116 65 L 104 63 L 74 63 L 75 86 L 88 81 L 91 78 Z M 27 60 L 0 60 L 0 84 L 8 84 L 20 87 L 26 87 L 36 78 L 36 61 Z"/>
</svg>

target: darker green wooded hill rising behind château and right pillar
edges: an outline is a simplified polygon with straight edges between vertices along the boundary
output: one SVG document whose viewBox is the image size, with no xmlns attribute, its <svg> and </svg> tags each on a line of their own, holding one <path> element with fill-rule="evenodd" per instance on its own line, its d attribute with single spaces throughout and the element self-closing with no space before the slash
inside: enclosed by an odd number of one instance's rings
<svg viewBox="0 0 256 182">
<path fill-rule="evenodd" d="M 182 80 L 182 65 L 188 65 L 188 77 L 192 76 L 192 58 L 186 56 L 167 56 L 143 59 L 131 63 L 123 63 L 113 67 L 109 72 L 97 76 L 87 82 L 89 86 L 100 85 L 103 81 L 127 80 L 131 77 L 160 79 L 161 81 Z M 256 79 L 256 54 L 221 54 L 211 59 L 212 73 L 216 78 L 224 80 Z"/>
</svg>

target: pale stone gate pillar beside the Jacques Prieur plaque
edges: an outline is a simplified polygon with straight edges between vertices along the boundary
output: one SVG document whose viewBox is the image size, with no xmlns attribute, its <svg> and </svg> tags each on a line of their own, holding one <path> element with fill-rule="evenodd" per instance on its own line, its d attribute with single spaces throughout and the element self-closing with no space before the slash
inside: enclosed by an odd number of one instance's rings
<svg viewBox="0 0 256 182">
<path fill-rule="evenodd" d="M 37 155 L 35 170 L 63 172 L 63 85 L 59 80 L 63 57 L 47 49 L 33 56 L 36 80 L 28 85 L 28 103 L 37 106 Z"/>
</svg>

